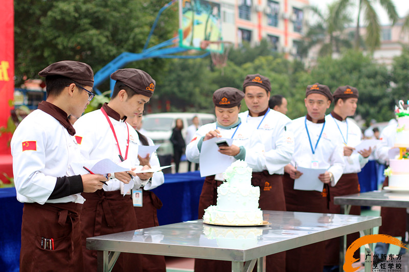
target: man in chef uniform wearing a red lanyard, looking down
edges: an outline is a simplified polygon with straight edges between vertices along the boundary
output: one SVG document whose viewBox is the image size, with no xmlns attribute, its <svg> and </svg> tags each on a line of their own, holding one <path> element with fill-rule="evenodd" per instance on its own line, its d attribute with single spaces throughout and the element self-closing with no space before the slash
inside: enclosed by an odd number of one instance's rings
<svg viewBox="0 0 409 272">
<path fill-rule="evenodd" d="M 109 103 L 75 122 L 77 142 L 87 160 L 109 158 L 116 163 L 127 160 L 135 169 L 140 164 L 137 157 L 139 137 L 125 120 L 143 111 L 153 94 L 155 81 L 148 73 L 129 68 L 113 72 L 111 79 L 117 82 Z M 96 252 L 85 248 L 87 237 L 138 229 L 131 194 L 123 196 L 127 192 L 121 193 L 121 188 L 124 188 L 124 183 L 131 182 L 134 183 L 131 189 L 139 189 L 148 182 L 152 173 L 135 174 L 132 170 L 115 173 L 111 177 L 103 190 L 84 194 L 86 202 L 81 227 L 86 271 L 97 269 Z M 140 258 L 135 256 L 121 254 L 115 266 L 122 271 L 142 271 Z"/>
</svg>

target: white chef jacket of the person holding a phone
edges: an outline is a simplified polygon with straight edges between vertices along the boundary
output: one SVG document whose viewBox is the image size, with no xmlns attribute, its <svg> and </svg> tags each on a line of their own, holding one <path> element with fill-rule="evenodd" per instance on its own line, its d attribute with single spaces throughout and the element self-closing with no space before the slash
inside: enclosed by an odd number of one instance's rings
<svg viewBox="0 0 409 272">
<path fill-rule="evenodd" d="M 189 161 L 195 163 L 199 162 L 200 151 L 197 146 L 199 140 L 209 131 L 213 131 L 216 129 L 220 131 L 220 135 L 222 138 L 232 138 L 234 134 L 233 144 L 239 147 L 244 147 L 246 151 L 244 161 L 249 167 L 253 168 L 254 172 L 260 172 L 265 169 L 264 145 L 261 143 L 260 135 L 257 132 L 253 132 L 252 129 L 243 122 L 240 123 L 239 127 L 236 126 L 227 130 L 221 128 L 220 125 L 216 127 L 216 122 L 201 126 L 196 131 L 193 140 L 186 147 L 186 158 Z M 229 157 L 232 163 L 236 161 L 233 156 Z"/>
</svg>

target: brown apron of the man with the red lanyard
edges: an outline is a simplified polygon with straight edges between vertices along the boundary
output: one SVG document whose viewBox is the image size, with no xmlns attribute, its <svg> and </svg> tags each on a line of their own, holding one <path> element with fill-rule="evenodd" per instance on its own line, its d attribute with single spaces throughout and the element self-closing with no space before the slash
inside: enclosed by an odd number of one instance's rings
<svg viewBox="0 0 409 272">
<path fill-rule="evenodd" d="M 81 193 L 85 202 L 81 212 L 84 271 L 97 270 L 97 251 L 85 248 L 86 238 L 138 229 L 130 195 L 120 191 L 98 190 Z M 142 271 L 138 254 L 121 253 L 112 271 Z"/>
</svg>

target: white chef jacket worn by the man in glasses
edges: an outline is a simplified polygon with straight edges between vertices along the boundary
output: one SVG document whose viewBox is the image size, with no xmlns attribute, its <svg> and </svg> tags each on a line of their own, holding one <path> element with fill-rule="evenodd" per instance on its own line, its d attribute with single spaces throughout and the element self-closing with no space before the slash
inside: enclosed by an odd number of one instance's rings
<svg viewBox="0 0 409 272">
<path fill-rule="evenodd" d="M 26 141 L 35 141 L 36 150 L 22 151 Z M 70 163 L 81 160 L 74 136 L 50 114 L 35 110 L 21 121 L 11 139 L 11 155 L 19 202 L 84 203 L 79 193 L 48 200 L 57 177 L 74 176 Z"/>
</svg>

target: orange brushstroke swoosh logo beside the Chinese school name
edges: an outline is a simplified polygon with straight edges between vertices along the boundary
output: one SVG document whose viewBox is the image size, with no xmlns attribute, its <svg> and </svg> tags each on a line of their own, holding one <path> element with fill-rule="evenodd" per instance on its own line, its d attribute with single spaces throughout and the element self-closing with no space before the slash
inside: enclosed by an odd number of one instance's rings
<svg viewBox="0 0 409 272">
<path fill-rule="evenodd" d="M 390 244 L 400 246 L 403 249 L 407 249 L 405 247 L 406 244 L 402 243 L 399 239 L 392 237 L 390 235 L 373 234 L 373 235 L 362 236 L 356 239 L 347 249 L 347 252 L 345 253 L 345 263 L 343 267 L 344 271 L 354 272 L 358 270 L 360 266 L 352 267 L 352 263 L 358 261 L 358 259 L 354 258 L 355 251 L 358 250 L 362 245 L 369 244 L 369 243 L 377 243 L 377 242 L 390 243 Z"/>
</svg>

